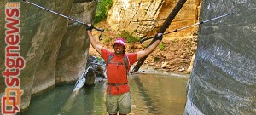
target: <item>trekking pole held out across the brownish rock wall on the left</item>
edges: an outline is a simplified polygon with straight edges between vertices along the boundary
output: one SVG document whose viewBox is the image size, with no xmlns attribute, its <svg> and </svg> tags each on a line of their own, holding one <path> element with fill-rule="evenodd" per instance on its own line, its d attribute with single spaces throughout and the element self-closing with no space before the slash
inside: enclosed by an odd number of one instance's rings
<svg viewBox="0 0 256 115">
<path fill-rule="evenodd" d="M 42 6 L 39 6 L 38 4 L 31 3 L 31 2 L 29 2 L 29 1 L 27 1 L 27 0 L 23 0 L 23 1 L 26 2 L 26 3 L 30 3 L 30 4 L 36 6 L 36 7 L 40 8 L 40 9 L 44 9 L 44 10 L 46 10 L 46 11 L 49 11 L 49 12 L 51 12 L 51 13 L 53 13 L 53 14 L 60 15 L 60 16 L 62 16 L 62 17 L 64 17 L 64 18 L 68 19 L 68 20 L 73 20 L 73 21 L 75 21 L 75 22 L 78 22 L 78 23 L 81 24 L 81 25 L 84 25 L 84 26 L 87 25 L 87 24 L 85 24 L 85 23 L 82 22 L 82 21 L 75 20 L 75 19 L 73 19 L 73 18 L 71 18 L 71 17 L 68 17 L 67 15 L 59 14 L 59 13 L 53 11 L 53 10 L 46 9 L 46 8 L 44 8 L 44 7 L 42 7 Z M 104 29 L 96 28 L 96 27 L 94 27 L 94 26 L 93 26 L 93 28 L 96 29 L 97 31 L 104 32 Z"/>
</svg>

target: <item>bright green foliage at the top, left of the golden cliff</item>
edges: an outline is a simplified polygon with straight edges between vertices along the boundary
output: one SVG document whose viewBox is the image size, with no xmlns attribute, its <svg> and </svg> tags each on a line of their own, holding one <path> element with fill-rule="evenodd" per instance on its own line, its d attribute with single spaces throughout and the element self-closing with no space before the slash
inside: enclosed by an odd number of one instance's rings
<svg viewBox="0 0 256 115">
<path fill-rule="evenodd" d="M 98 23 L 107 18 L 108 10 L 111 8 L 112 0 L 99 0 L 96 8 L 96 18 L 94 23 Z"/>
</svg>

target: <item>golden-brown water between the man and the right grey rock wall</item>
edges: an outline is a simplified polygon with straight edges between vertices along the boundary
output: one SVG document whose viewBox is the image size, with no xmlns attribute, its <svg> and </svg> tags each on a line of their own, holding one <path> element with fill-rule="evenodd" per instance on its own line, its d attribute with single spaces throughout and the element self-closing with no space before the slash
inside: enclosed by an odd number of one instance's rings
<svg viewBox="0 0 256 115">
<path fill-rule="evenodd" d="M 131 83 L 133 114 L 183 114 L 188 78 L 140 75 Z M 130 80 L 131 81 L 131 80 Z"/>
</svg>

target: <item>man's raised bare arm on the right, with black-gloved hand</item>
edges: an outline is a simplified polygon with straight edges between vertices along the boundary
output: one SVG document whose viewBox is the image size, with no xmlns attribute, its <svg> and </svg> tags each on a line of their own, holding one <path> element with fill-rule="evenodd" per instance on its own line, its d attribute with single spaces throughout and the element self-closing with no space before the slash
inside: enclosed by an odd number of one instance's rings
<svg viewBox="0 0 256 115">
<path fill-rule="evenodd" d="M 137 60 L 143 58 L 146 55 L 149 55 L 150 53 L 152 53 L 154 51 L 154 49 L 156 48 L 156 46 L 158 46 L 158 44 L 161 42 L 162 40 L 162 33 L 158 33 L 155 35 L 155 37 L 157 38 L 157 40 L 151 44 L 150 46 L 148 46 L 147 49 L 144 49 L 142 51 L 138 51 L 137 52 Z"/>
</svg>

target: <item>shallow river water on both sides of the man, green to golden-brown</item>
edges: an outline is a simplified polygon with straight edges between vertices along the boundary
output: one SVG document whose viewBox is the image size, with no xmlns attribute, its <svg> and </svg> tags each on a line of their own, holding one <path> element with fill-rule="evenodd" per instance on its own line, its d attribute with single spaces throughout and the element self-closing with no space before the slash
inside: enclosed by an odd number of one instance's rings
<svg viewBox="0 0 256 115">
<path fill-rule="evenodd" d="M 129 79 L 132 98 L 131 115 L 183 115 L 186 83 L 189 76 L 140 74 Z M 106 82 L 85 86 L 76 96 L 74 84 L 56 86 L 32 98 L 24 115 L 107 115 Z M 65 105 L 65 107 L 64 107 Z M 61 112 L 61 109 L 67 112 Z"/>
</svg>

